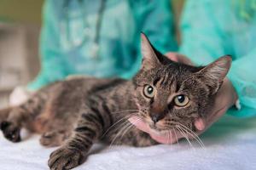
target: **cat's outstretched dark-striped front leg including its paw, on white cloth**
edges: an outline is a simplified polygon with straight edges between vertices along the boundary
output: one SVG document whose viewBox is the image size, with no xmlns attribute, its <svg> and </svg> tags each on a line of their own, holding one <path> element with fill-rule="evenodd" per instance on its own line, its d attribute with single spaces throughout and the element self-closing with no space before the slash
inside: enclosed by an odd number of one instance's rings
<svg viewBox="0 0 256 170">
<path fill-rule="evenodd" d="M 92 144 L 102 135 L 102 117 L 102 113 L 92 110 L 81 114 L 71 137 L 49 156 L 50 169 L 71 169 L 83 163 Z"/>
</svg>

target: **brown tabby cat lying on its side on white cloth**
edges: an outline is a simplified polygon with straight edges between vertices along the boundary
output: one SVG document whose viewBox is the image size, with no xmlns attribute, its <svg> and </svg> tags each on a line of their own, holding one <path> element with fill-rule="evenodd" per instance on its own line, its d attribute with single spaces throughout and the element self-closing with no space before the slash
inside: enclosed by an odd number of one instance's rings
<svg viewBox="0 0 256 170">
<path fill-rule="evenodd" d="M 143 62 L 132 80 L 72 77 L 54 82 L 24 104 L 0 111 L 4 137 L 20 142 L 21 127 L 42 134 L 44 146 L 61 146 L 48 161 L 50 169 L 59 170 L 83 163 L 97 141 L 158 144 L 148 133 L 130 128 L 131 116 L 160 133 L 181 124 L 195 131 L 193 122 L 211 109 L 230 69 L 230 56 L 207 66 L 185 65 L 160 54 L 143 33 L 141 39 Z"/>
</svg>

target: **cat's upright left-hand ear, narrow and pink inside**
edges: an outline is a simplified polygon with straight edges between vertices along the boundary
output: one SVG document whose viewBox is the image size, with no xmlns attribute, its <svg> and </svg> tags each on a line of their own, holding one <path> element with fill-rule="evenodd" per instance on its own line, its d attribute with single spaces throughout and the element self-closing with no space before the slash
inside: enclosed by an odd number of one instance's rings
<svg viewBox="0 0 256 170">
<path fill-rule="evenodd" d="M 143 70 L 150 70 L 160 65 L 160 59 L 158 59 L 153 45 L 143 32 L 141 33 L 141 51 L 143 54 Z"/>
</svg>

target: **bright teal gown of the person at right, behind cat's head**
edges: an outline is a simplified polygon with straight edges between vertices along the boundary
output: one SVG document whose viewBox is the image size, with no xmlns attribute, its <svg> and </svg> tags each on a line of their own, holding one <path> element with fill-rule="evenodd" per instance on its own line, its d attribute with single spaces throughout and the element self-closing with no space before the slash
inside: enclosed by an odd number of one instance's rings
<svg viewBox="0 0 256 170">
<path fill-rule="evenodd" d="M 224 54 L 233 63 L 228 74 L 241 101 L 234 116 L 256 115 L 256 1 L 188 0 L 184 7 L 180 53 L 197 65 Z"/>
</svg>

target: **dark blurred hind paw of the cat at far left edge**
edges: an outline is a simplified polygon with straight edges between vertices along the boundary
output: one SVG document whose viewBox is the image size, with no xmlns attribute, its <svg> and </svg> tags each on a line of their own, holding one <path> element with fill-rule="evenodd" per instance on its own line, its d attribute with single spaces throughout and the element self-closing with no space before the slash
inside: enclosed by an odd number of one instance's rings
<svg viewBox="0 0 256 170">
<path fill-rule="evenodd" d="M 0 128 L 3 136 L 12 142 L 20 142 L 20 127 L 15 126 L 13 122 L 1 122 Z"/>
</svg>

